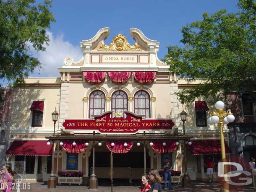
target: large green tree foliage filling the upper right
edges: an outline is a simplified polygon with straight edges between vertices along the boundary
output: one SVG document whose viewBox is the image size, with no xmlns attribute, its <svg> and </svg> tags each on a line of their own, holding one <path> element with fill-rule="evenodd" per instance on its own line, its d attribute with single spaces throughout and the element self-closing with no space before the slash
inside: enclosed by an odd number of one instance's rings
<svg viewBox="0 0 256 192">
<path fill-rule="evenodd" d="M 219 10 L 182 27 L 183 47 L 170 46 L 170 72 L 198 86 L 178 91 L 180 101 L 225 99 L 229 92 L 256 91 L 256 1 L 239 0 L 238 13 Z M 223 98 L 224 97 L 224 98 Z"/>
</svg>

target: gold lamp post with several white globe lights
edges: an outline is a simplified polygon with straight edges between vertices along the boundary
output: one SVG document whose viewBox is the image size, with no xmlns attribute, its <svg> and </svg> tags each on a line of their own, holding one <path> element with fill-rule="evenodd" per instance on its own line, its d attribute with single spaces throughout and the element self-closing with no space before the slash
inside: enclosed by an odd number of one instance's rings
<svg viewBox="0 0 256 192">
<path fill-rule="evenodd" d="M 234 115 L 231 113 L 231 110 L 228 109 L 227 112 L 224 111 L 225 104 L 222 101 L 217 101 L 215 104 L 215 108 L 217 110 L 213 110 L 212 117 L 208 118 L 208 124 L 212 125 L 218 123 L 219 132 L 220 132 L 220 146 L 221 146 L 221 158 L 222 161 L 225 161 L 226 152 L 225 152 L 225 140 L 223 135 L 223 127 L 224 124 L 228 124 L 235 120 Z M 229 192 L 229 187 L 226 182 L 223 184 L 223 192 Z"/>
</svg>

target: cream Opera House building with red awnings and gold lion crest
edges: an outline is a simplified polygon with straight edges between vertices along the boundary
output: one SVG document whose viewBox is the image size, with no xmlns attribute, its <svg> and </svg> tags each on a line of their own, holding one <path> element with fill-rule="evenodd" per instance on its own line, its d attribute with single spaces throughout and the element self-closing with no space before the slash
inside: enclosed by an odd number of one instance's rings
<svg viewBox="0 0 256 192">
<path fill-rule="evenodd" d="M 188 173 L 192 180 L 208 179 L 204 160 L 208 156 L 214 161 L 220 158 L 219 128 L 208 126 L 206 121 L 210 106 L 208 108 L 201 99 L 191 106 L 184 106 L 188 116 L 183 136 L 180 120 L 183 106 L 175 96 L 175 91 L 196 86 L 196 83 L 188 84 L 169 73 L 169 66 L 157 58 L 159 42 L 148 39 L 138 29 L 131 28 L 130 31 L 136 41 L 133 46 L 121 34 L 115 36 L 107 46 L 104 40 L 109 36 L 110 29 L 100 29 L 93 38 L 80 43 L 84 53 L 81 60 L 75 62 L 72 57 L 65 58 L 63 67 L 58 68 L 60 78 L 27 78 L 25 84 L 15 88 L 8 161 L 27 161 L 26 179 L 30 182 L 47 181 L 49 178 L 52 145 L 46 144 L 47 138 L 57 141 L 54 146 L 54 173 L 82 171 L 84 183 L 88 182 L 91 175 L 93 143 L 96 144 L 95 174 L 97 178 L 108 178 L 111 146 L 106 144 L 112 141 L 124 143 L 126 139 L 127 143 L 131 141 L 133 147 L 127 149 L 128 153 L 115 154 L 115 177 L 129 178 L 132 174 L 133 179 L 138 179 L 145 166 L 146 169 L 161 170 L 165 156 L 171 158 L 175 170 L 184 172 L 184 142 L 190 139 L 192 145 L 187 150 Z M 56 137 L 52 136 L 51 115 L 55 109 L 59 113 Z M 102 114 L 102 118 L 99 118 Z M 87 121 L 105 122 L 108 118 L 111 118 L 109 122 L 119 122 L 119 119 L 125 121 L 126 117 L 131 118 L 131 122 L 141 122 L 141 125 L 149 128 L 127 124 L 126 131 L 136 132 L 125 132 L 125 129 L 115 127 L 119 124 L 113 127 L 107 127 L 106 124 L 90 124 L 90 127 L 86 124 Z M 78 126 L 84 128 L 68 129 L 69 126 L 75 126 L 76 121 L 80 121 Z M 146 121 L 149 123 L 143 124 Z M 161 121 L 166 122 L 157 124 Z M 156 124 L 151 125 L 150 122 Z M 172 123 L 173 127 L 170 127 Z M 227 127 L 224 135 L 228 143 Z M 75 150 L 73 141 L 76 141 L 76 150 L 80 153 L 69 152 Z M 100 141 L 103 143 L 101 146 L 97 145 Z M 60 145 L 60 142 L 64 144 Z M 84 146 L 85 142 L 89 145 Z M 136 145 L 137 142 L 141 145 Z M 168 153 L 161 153 L 165 150 Z M 76 162 L 74 167 L 70 165 L 71 158 Z"/>
</svg>

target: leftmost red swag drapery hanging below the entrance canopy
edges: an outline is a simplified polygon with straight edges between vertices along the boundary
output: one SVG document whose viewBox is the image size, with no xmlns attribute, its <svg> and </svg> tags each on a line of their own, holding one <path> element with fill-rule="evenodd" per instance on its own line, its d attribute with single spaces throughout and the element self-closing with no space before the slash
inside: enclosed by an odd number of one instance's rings
<svg viewBox="0 0 256 192">
<path fill-rule="evenodd" d="M 63 141 L 62 147 L 67 153 L 81 153 L 86 150 L 85 141 L 76 141 L 75 146 L 72 145 L 73 142 L 71 140 Z"/>
</svg>

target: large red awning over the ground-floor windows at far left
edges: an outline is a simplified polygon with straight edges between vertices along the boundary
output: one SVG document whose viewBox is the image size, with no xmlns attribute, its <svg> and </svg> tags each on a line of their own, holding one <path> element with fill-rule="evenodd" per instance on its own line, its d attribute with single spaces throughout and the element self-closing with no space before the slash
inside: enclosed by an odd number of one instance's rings
<svg viewBox="0 0 256 192">
<path fill-rule="evenodd" d="M 6 151 L 6 154 L 26 156 L 52 156 L 52 144 L 47 145 L 47 142 L 47 140 L 15 140 Z"/>
</svg>

